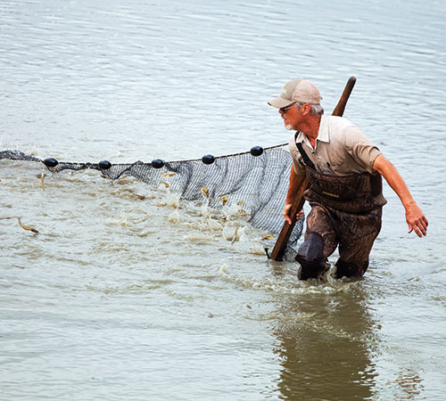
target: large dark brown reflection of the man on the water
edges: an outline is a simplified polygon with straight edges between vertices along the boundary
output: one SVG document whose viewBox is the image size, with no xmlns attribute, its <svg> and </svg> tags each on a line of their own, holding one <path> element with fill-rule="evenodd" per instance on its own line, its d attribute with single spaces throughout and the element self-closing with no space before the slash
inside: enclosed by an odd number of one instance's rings
<svg viewBox="0 0 446 401">
<path fill-rule="evenodd" d="M 326 295 L 280 299 L 274 334 L 282 369 L 277 388 L 283 399 L 368 399 L 373 397 L 378 337 L 361 282 L 335 284 Z M 322 291 L 320 291 L 322 289 Z"/>
</svg>

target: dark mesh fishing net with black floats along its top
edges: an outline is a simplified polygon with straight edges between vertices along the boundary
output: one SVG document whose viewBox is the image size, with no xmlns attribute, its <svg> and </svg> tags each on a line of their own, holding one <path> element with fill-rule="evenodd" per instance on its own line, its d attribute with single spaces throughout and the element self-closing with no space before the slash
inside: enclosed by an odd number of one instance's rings
<svg viewBox="0 0 446 401">
<path fill-rule="evenodd" d="M 254 147 L 244 153 L 215 158 L 206 155 L 201 160 L 153 160 L 151 163 L 57 162 L 40 160 L 21 151 L 0 151 L 1 159 L 41 162 L 53 173 L 90 168 L 111 180 L 133 176 L 146 184 L 168 186 L 180 200 L 202 200 L 204 195 L 209 207 L 214 209 L 221 209 L 225 204 L 242 205 L 251 225 L 273 235 L 280 233 L 284 224 L 282 210 L 292 165 L 285 144 L 265 149 Z M 295 253 L 302 226 L 303 219 L 293 228 L 285 250 L 288 258 Z"/>
</svg>

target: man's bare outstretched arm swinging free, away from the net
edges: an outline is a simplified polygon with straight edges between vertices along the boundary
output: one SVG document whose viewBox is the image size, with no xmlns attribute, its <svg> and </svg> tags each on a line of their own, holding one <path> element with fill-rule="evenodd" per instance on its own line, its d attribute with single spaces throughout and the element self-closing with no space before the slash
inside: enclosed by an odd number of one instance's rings
<svg viewBox="0 0 446 401">
<path fill-rule="evenodd" d="M 392 165 L 392 163 L 385 159 L 382 154 L 376 156 L 373 163 L 373 168 L 381 176 L 384 176 L 385 181 L 392 187 L 392 190 L 400 197 L 404 209 L 406 209 L 406 222 L 409 225 L 409 233 L 415 231 L 418 237 L 422 237 L 426 234 L 427 219 L 425 215 L 418 208 L 417 202 L 414 201 L 409 189 L 400 176 L 398 170 Z"/>
</svg>

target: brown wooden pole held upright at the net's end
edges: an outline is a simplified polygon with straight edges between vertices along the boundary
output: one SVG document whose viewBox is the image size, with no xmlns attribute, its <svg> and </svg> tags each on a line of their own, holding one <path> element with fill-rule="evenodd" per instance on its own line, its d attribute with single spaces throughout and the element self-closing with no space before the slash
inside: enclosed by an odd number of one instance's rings
<svg viewBox="0 0 446 401">
<path fill-rule="evenodd" d="M 353 86 L 355 86 L 355 83 L 355 77 L 349 78 L 347 84 L 345 85 L 345 88 L 343 89 L 341 99 L 339 99 L 339 102 L 337 102 L 336 104 L 335 110 L 333 110 L 333 116 L 343 116 L 345 105 L 349 100 L 351 91 L 353 90 Z M 303 199 L 303 192 L 305 192 L 305 190 L 307 189 L 308 184 L 308 178 L 305 177 L 290 209 L 290 217 L 292 219 L 291 224 L 285 221 L 285 224 L 282 227 L 282 231 L 277 237 L 276 245 L 274 245 L 274 249 L 269 256 L 269 258 L 273 260 L 280 261 L 284 257 L 286 243 L 288 242 L 290 235 L 293 232 L 294 225 L 296 224 L 296 214 L 303 208 L 303 203 L 305 202 L 305 200 Z"/>
</svg>

